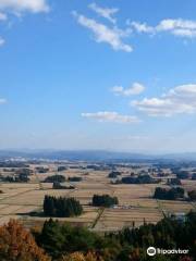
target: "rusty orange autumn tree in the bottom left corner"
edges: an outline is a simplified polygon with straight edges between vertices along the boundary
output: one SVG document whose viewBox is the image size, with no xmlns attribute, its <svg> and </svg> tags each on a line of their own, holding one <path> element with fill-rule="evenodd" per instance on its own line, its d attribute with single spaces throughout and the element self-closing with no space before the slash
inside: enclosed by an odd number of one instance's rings
<svg viewBox="0 0 196 261">
<path fill-rule="evenodd" d="M 1 261 L 50 261 L 29 232 L 14 220 L 0 227 Z"/>
</svg>

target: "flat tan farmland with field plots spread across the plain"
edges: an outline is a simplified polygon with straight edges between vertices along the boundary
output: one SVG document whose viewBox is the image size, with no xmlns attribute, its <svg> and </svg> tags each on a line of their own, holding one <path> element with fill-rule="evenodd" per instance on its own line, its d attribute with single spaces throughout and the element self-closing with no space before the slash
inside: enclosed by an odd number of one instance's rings
<svg viewBox="0 0 196 261">
<path fill-rule="evenodd" d="M 75 217 L 61 217 L 71 224 L 85 225 L 93 231 L 110 232 L 118 231 L 124 226 L 139 226 L 144 223 L 157 223 L 164 215 L 175 213 L 187 213 L 195 210 L 195 202 L 187 200 L 157 200 L 152 198 L 155 188 L 161 186 L 169 188 L 167 178 L 174 177 L 168 169 L 162 170 L 161 177 L 150 172 L 154 178 L 159 178 L 157 184 L 114 184 L 108 177 L 110 167 L 102 167 L 97 164 L 97 169 L 88 165 L 87 162 L 64 162 L 65 170 L 58 173 L 57 162 L 30 163 L 32 171 L 27 183 L 0 183 L 0 224 L 10 219 L 19 219 L 26 226 L 42 224 L 46 219 L 41 215 L 45 195 L 74 197 L 83 204 L 84 212 Z M 61 163 L 62 164 L 62 163 Z M 38 167 L 46 167 L 46 173 L 39 173 Z M 115 171 L 121 172 L 121 177 L 130 176 L 131 173 L 138 175 L 139 172 L 147 172 L 149 164 L 115 164 Z M 17 170 L 1 167 L 1 176 L 14 176 Z M 46 183 L 45 178 L 54 174 L 69 177 L 82 177 L 81 182 L 65 182 L 66 185 L 74 186 L 74 189 L 53 189 L 52 183 Z M 182 187 L 188 191 L 196 187 L 196 181 L 183 179 Z M 91 206 L 94 195 L 110 195 L 119 199 L 119 204 L 112 208 L 98 208 Z"/>
</svg>

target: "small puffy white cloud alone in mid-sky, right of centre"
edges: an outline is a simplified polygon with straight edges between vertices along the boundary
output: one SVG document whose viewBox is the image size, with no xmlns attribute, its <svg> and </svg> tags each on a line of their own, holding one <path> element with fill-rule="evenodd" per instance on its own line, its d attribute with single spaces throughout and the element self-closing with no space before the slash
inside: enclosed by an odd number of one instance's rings
<svg viewBox="0 0 196 261">
<path fill-rule="evenodd" d="M 139 95 L 145 90 L 144 85 L 134 83 L 130 88 L 124 89 L 122 86 L 114 86 L 111 91 L 117 96 L 134 96 Z"/>
</svg>

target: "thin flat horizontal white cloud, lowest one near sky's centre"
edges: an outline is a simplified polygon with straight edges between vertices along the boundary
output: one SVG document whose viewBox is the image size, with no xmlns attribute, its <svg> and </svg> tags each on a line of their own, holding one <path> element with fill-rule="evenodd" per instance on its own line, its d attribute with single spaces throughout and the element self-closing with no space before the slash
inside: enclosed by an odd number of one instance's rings
<svg viewBox="0 0 196 261">
<path fill-rule="evenodd" d="M 137 116 L 123 115 L 118 112 L 95 112 L 95 113 L 82 113 L 83 117 L 94 119 L 98 122 L 111 122 L 111 123 L 138 123 L 140 122 Z"/>
</svg>

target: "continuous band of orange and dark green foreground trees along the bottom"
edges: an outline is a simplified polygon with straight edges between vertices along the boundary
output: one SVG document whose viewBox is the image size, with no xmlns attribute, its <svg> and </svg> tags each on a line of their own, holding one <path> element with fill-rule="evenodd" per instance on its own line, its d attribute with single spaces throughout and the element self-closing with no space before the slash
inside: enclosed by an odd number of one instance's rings
<svg viewBox="0 0 196 261">
<path fill-rule="evenodd" d="M 196 212 L 184 222 L 166 217 L 157 224 L 98 235 L 85 227 L 49 220 L 34 237 L 17 222 L 0 227 L 0 261 L 195 261 Z M 36 244 L 37 243 L 37 244 Z M 39 248 L 38 246 L 41 248 Z M 148 257 L 149 246 L 188 249 L 188 254 Z"/>
</svg>

